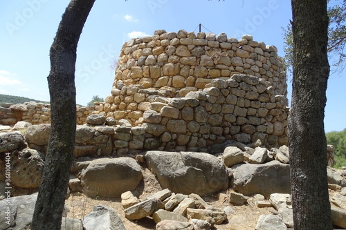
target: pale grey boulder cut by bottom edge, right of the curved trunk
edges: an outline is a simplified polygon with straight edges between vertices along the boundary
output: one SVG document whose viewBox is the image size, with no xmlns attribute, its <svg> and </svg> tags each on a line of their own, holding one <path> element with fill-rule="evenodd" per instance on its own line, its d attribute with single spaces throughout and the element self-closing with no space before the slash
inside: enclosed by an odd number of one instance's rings
<svg viewBox="0 0 346 230">
<path fill-rule="evenodd" d="M 85 230 L 125 230 L 118 213 L 111 207 L 102 204 L 93 207 L 93 211 L 86 215 L 83 219 L 83 227 Z"/>
</svg>

